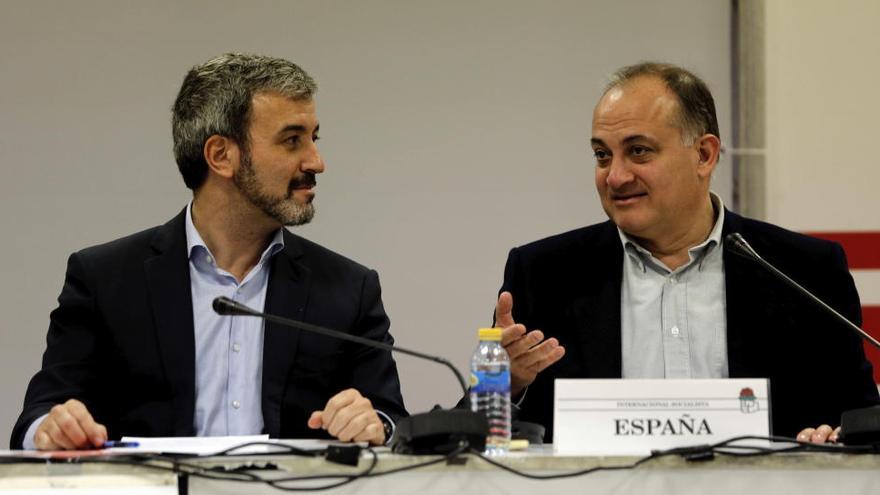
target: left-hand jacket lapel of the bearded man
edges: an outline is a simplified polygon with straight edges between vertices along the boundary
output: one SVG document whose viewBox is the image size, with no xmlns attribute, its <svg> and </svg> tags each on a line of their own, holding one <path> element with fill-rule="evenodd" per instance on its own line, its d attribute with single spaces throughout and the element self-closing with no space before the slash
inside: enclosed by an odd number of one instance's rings
<svg viewBox="0 0 880 495">
<path fill-rule="evenodd" d="M 195 434 L 195 335 L 189 257 L 186 252 L 186 208 L 158 228 L 154 256 L 144 261 L 162 365 L 171 383 L 176 415 L 174 435 Z"/>
</svg>

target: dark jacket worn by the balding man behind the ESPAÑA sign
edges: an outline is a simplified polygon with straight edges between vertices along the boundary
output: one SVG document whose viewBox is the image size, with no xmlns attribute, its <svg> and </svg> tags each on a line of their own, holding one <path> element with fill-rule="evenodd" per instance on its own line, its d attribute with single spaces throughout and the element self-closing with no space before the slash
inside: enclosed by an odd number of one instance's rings
<svg viewBox="0 0 880 495">
<path fill-rule="evenodd" d="M 861 325 L 859 297 L 840 245 L 725 211 L 767 261 Z M 878 402 L 860 339 L 752 261 L 724 250 L 731 378 L 770 379 L 772 428 L 835 425 L 840 413 Z M 529 387 L 519 418 L 553 438 L 555 378 L 620 378 L 623 247 L 610 221 L 514 248 L 502 290 L 513 316 L 565 346 L 562 360 Z"/>
</svg>

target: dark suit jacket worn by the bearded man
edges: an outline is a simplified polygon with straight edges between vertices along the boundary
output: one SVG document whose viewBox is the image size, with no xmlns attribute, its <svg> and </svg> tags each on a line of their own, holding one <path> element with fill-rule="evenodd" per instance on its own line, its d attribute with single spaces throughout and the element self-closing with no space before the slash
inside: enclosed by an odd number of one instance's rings
<svg viewBox="0 0 880 495">
<path fill-rule="evenodd" d="M 110 438 L 195 434 L 185 212 L 71 255 L 43 367 L 28 386 L 13 447 L 21 448 L 31 422 L 69 398 L 85 403 Z M 375 271 L 287 230 L 284 244 L 272 258 L 266 312 L 393 342 Z M 406 415 L 387 351 L 266 323 L 265 433 L 323 435 L 308 429 L 309 414 L 348 387 L 392 418 Z"/>
</svg>

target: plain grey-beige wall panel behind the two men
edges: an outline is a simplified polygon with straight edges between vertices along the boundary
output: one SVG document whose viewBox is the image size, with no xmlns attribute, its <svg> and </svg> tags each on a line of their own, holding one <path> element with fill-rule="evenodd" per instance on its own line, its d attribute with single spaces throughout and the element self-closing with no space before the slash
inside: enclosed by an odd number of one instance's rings
<svg viewBox="0 0 880 495">
<path fill-rule="evenodd" d="M 507 250 L 604 218 L 589 133 L 608 73 L 686 65 L 730 132 L 726 0 L 0 9 L 0 432 L 39 367 L 67 255 L 185 205 L 169 108 L 186 70 L 216 54 L 287 57 L 316 76 L 328 168 L 315 222 L 298 232 L 377 268 L 398 342 L 462 370 Z M 729 201 L 725 164 L 716 189 Z M 411 410 L 457 399 L 445 370 L 398 362 Z"/>
</svg>

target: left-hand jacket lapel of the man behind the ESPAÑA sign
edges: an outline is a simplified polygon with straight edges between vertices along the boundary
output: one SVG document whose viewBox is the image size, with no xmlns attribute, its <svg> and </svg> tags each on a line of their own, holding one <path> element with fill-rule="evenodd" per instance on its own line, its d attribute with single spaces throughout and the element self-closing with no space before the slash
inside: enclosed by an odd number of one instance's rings
<svg viewBox="0 0 880 495">
<path fill-rule="evenodd" d="M 620 291 L 623 280 L 623 247 L 617 227 L 608 221 L 600 226 L 598 239 L 592 244 L 582 239 L 577 250 L 584 268 L 583 290 L 573 301 L 577 347 L 583 350 L 586 376 L 620 378 Z M 594 246 L 594 247 L 593 247 Z"/>
</svg>

